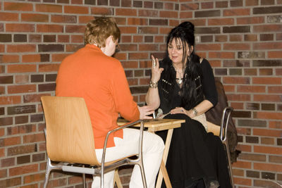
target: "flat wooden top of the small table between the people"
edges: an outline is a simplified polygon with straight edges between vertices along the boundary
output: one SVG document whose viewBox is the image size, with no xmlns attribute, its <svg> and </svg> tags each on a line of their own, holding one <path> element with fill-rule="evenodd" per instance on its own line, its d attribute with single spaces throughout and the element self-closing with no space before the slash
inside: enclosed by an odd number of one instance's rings
<svg viewBox="0 0 282 188">
<path fill-rule="evenodd" d="M 128 123 L 127 120 L 118 119 L 118 125 L 124 125 Z M 160 130 L 169 130 L 178 128 L 181 126 L 181 123 L 185 123 L 185 120 L 176 120 L 176 119 L 150 119 L 144 120 L 144 127 L 148 128 L 149 132 L 156 132 Z M 140 124 L 135 125 L 140 126 Z"/>
</svg>

